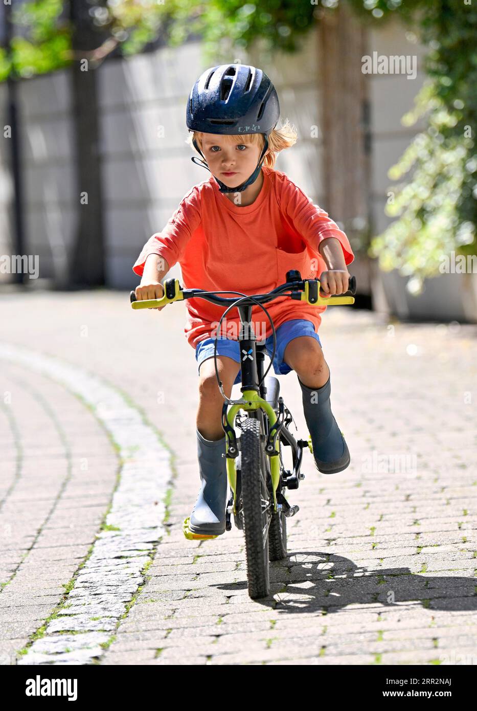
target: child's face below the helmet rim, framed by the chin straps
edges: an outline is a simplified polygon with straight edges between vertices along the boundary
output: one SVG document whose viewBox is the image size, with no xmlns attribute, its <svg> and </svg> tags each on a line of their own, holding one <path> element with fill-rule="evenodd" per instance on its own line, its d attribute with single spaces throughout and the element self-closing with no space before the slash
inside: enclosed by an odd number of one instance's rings
<svg viewBox="0 0 477 711">
<path fill-rule="evenodd" d="M 202 152 L 215 178 L 227 188 L 240 185 L 252 175 L 262 153 L 259 144 L 232 143 L 221 134 L 203 134 Z"/>
</svg>

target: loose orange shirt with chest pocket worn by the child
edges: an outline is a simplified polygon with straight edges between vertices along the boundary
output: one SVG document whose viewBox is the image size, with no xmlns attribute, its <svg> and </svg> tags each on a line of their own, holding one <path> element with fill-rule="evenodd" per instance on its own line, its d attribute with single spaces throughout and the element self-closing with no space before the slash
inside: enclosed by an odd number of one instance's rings
<svg viewBox="0 0 477 711">
<path fill-rule="evenodd" d="M 186 289 L 231 289 L 251 295 L 283 284 L 289 269 L 298 269 L 302 279 L 319 278 L 327 267 L 318 245 L 327 237 L 341 242 L 346 264 L 353 262 L 348 237 L 324 210 L 313 205 L 285 173 L 265 167 L 262 172 L 262 190 L 254 203 L 245 207 L 220 193 L 213 176 L 194 186 L 164 230 L 146 242 L 132 267 L 134 272 L 141 277 L 146 257 L 156 254 L 164 257 L 169 267 L 181 264 Z M 230 298 L 233 294 L 221 296 Z M 289 296 L 264 306 L 275 328 L 290 319 L 309 319 L 316 331 L 320 314 L 326 309 Z M 210 338 L 225 309 L 205 299 L 187 299 L 186 309 L 184 333 L 195 348 L 199 341 Z M 221 333 L 235 333 L 232 337 L 236 338 L 240 321 L 237 309 L 231 309 L 226 319 L 227 330 L 223 326 Z M 272 333 L 259 306 L 252 309 L 252 322 L 260 338 Z"/>
</svg>

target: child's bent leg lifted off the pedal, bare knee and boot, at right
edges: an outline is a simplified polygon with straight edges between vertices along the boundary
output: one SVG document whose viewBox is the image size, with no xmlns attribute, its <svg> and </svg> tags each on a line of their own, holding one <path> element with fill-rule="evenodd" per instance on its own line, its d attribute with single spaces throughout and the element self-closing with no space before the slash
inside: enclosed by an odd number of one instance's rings
<svg viewBox="0 0 477 711">
<path fill-rule="evenodd" d="M 304 321 L 303 333 L 309 329 L 306 324 L 310 322 Z M 316 467 L 323 474 L 335 474 L 349 466 L 350 453 L 331 412 L 330 370 L 318 340 L 296 333 L 284 348 L 284 360 L 298 375 Z"/>
</svg>

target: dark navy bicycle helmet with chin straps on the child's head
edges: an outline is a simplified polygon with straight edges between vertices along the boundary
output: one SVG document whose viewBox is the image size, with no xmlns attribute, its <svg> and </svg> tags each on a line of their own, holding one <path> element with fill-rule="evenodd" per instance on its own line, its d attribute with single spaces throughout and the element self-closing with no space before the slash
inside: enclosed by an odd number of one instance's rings
<svg viewBox="0 0 477 711">
<path fill-rule="evenodd" d="M 241 193 L 257 180 L 268 148 L 267 137 L 277 125 L 279 115 L 277 92 L 261 69 L 247 64 L 222 64 L 200 75 L 187 102 L 189 131 L 229 136 L 242 133 L 264 135 L 262 154 L 250 178 L 236 188 L 228 188 L 215 178 L 221 193 Z M 205 159 L 195 139 L 193 145 Z M 191 160 L 210 170 L 206 162 L 195 156 Z"/>
</svg>

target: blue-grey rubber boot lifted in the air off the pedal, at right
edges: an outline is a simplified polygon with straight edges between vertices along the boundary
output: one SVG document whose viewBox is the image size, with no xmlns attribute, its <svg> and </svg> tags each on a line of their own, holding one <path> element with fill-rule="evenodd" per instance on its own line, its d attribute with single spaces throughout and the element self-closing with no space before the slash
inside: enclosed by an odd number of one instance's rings
<svg viewBox="0 0 477 711">
<path fill-rule="evenodd" d="M 297 376 L 298 377 L 298 376 Z M 322 474 L 336 474 L 350 464 L 350 453 L 343 434 L 331 412 L 330 378 L 323 387 L 306 387 L 298 378 L 303 392 L 303 409 L 311 435 L 313 458 Z"/>
</svg>

